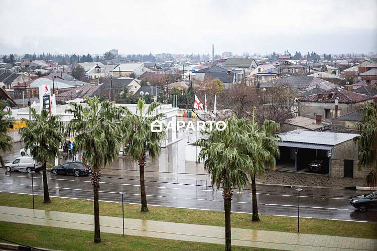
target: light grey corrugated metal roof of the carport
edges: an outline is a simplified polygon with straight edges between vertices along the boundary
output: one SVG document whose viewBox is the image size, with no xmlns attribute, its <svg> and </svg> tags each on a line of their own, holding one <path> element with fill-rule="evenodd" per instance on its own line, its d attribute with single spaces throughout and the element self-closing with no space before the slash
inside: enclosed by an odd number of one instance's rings
<svg viewBox="0 0 377 251">
<path fill-rule="evenodd" d="M 334 146 L 352 140 L 358 134 L 312 132 L 295 130 L 279 134 L 281 147 L 331 150 Z"/>
</svg>

